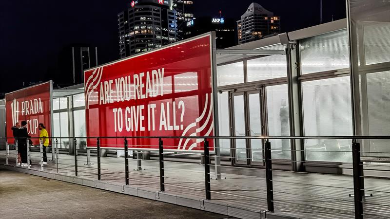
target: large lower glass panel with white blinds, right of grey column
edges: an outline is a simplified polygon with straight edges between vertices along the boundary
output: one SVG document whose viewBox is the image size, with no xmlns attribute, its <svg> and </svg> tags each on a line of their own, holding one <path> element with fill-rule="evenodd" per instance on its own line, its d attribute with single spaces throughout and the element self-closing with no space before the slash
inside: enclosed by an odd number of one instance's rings
<svg viewBox="0 0 390 219">
<path fill-rule="evenodd" d="M 349 76 L 302 82 L 305 136 L 352 135 Z M 306 160 L 351 162 L 351 140 L 305 140 Z"/>
</svg>

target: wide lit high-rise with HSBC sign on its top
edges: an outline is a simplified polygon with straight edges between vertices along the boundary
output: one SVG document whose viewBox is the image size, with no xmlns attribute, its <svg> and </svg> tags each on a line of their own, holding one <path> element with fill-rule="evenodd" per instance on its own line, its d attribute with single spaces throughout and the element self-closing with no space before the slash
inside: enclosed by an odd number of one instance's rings
<svg viewBox="0 0 390 219">
<path fill-rule="evenodd" d="M 175 11 L 168 0 L 136 0 L 118 14 L 120 58 L 177 41 Z"/>
</svg>

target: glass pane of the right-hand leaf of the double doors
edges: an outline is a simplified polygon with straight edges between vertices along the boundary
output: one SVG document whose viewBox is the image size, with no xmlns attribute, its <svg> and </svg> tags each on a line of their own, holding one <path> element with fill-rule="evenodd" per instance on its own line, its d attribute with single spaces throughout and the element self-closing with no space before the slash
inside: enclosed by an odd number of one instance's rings
<svg viewBox="0 0 390 219">
<path fill-rule="evenodd" d="M 261 136 L 260 94 L 248 94 L 250 136 Z M 263 151 L 261 139 L 251 139 L 253 162 L 262 162 Z"/>
</svg>

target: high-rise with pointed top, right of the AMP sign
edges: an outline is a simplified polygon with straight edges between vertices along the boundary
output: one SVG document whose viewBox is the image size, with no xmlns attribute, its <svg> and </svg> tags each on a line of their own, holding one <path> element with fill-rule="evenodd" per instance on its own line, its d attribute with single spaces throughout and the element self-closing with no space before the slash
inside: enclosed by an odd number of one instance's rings
<svg viewBox="0 0 390 219">
<path fill-rule="evenodd" d="M 253 2 L 237 20 L 238 44 L 280 33 L 280 17 Z"/>
</svg>

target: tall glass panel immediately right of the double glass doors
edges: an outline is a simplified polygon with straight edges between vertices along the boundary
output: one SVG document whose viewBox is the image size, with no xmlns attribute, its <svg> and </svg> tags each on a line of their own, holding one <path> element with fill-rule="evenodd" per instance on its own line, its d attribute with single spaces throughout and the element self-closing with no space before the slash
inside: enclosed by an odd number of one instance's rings
<svg viewBox="0 0 390 219">
<path fill-rule="evenodd" d="M 269 136 L 290 136 L 289 98 L 287 84 L 268 86 L 267 118 Z M 272 157 L 291 159 L 290 140 L 270 139 Z"/>
</svg>

